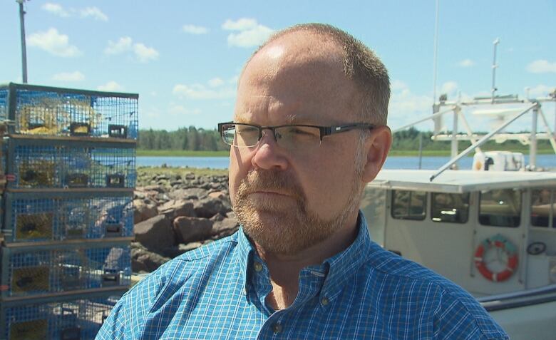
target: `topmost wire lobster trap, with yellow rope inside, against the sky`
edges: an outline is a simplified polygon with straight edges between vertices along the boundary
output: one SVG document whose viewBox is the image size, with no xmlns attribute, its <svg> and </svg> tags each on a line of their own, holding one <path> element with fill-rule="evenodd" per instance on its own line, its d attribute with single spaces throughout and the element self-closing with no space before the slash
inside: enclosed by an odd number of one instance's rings
<svg viewBox="0 0 556 340">
<path fill-rule="evenodd" d="M 137 139 L 138 95 L 9 83 L 0 86 L 3 118 L 15 134 Z"/>
</svg>

